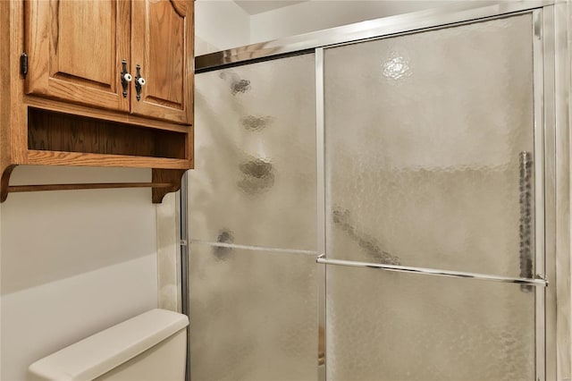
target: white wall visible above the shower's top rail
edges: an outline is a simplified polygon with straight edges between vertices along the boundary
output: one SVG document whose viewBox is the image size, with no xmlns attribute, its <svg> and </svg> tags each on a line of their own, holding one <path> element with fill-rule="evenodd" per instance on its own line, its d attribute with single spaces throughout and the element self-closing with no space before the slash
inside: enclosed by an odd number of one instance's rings
<svg viewBox="0 0 572 381">
<path fill-rule="evenodd" d="M 197 0 L 195 53 L 205 55 L 231 47 L 453 3 L 458 1 L 311 0 L 250 15 L 231 0 Z"/>
</svg>

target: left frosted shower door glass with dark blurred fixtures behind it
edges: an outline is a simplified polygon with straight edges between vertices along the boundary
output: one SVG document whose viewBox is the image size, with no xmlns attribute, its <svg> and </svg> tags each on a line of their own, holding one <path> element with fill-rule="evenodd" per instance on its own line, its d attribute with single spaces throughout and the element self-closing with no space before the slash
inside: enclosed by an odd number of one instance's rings
<svg viewBox="0 0 572 381">
<path fill-rule="evenodd" d="M 200 73 L 190 378 L 314 380 L 315 56 Z"/>
</svg>

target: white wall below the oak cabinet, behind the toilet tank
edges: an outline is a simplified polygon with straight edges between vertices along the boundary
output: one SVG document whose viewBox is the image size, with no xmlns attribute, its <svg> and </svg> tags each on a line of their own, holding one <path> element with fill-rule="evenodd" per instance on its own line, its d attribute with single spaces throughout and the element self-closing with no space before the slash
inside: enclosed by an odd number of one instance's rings
<svg viewBox="0 0 572 381">
<path fill-rule="evenodd" d="M 148 170 L 18 167 L 11 184 L 148 182 Z M 157 305 L 150 190 L 11 193 L 0 206 L 3 381 Z"/>
</svg>

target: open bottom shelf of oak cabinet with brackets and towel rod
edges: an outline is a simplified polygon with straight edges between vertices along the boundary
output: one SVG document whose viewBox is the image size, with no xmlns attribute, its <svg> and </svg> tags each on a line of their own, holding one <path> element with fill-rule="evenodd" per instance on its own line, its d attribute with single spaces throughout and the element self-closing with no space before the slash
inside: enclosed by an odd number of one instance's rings
<svg viewBox="0 0 572 381">
<path fill-rule="evenodd" d="M 9 192 L 141 188 L 152 190 L 154 203 L 181 188 L 181 177 L 193 165 L 193 128 L 165 130 L 117 123 L 28 107 L 23 136 L 0 156 L 0 202 Z M 27 135 L 26 135 L 27 131 Z M 152 169 L 150 182 L 34 184 L 10 186 L 17 165 L 105 166 Z"/>
</svg>

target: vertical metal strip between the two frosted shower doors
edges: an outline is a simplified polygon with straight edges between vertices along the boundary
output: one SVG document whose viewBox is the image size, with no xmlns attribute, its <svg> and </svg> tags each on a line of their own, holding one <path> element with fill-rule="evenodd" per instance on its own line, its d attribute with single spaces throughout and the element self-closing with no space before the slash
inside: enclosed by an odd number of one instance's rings
<svg viewBox="0 0 572 381">
<path fill-rule="evenodd" d="M 325 254 L 325 114 L 324 48 L 315 49 L 315 162 L 317 165 L 317 245 L 318 255 Z M 318 381 L 326 380 L 326 266 L 317 265 L 318 285 Z M 320 348 L 324 353 L 320 353 Z"/>
</svg>

